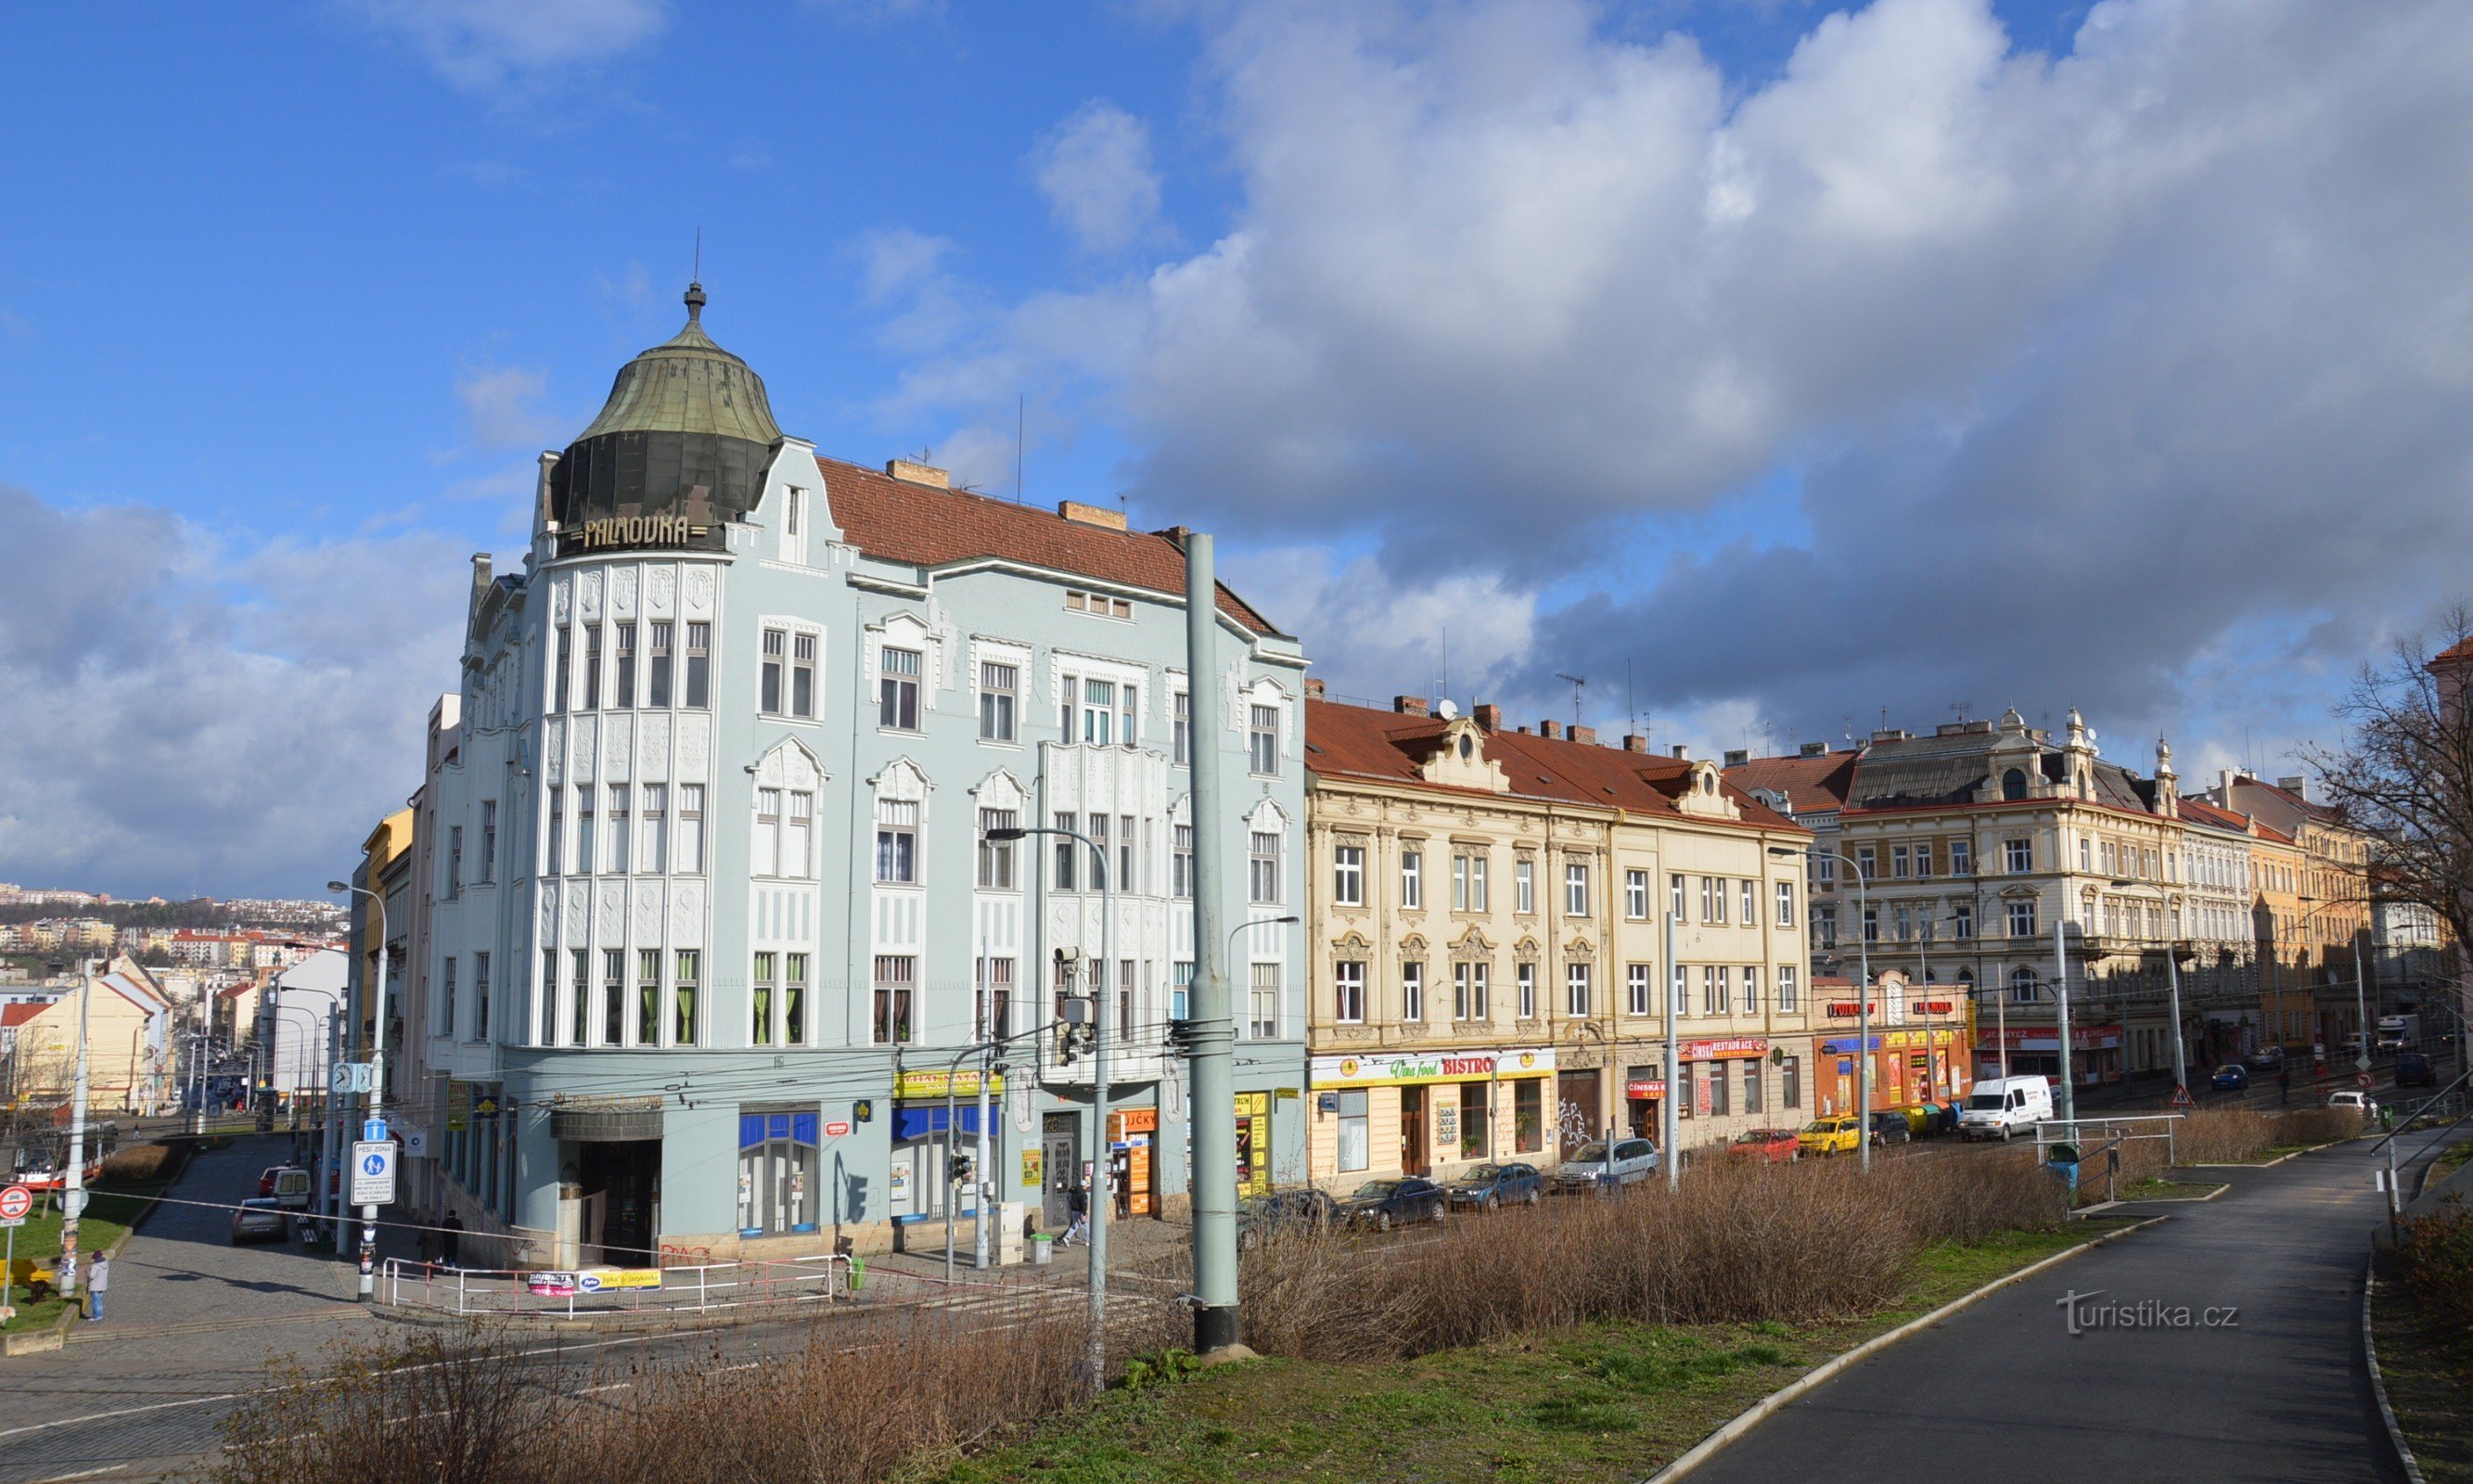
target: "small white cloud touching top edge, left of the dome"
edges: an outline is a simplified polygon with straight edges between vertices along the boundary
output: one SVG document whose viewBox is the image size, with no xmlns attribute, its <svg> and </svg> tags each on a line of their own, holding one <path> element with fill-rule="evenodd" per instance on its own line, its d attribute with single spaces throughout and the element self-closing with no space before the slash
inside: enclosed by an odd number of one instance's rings
<svg viewBox="0 0 2473 1484">
<path fill-rule="evenodd" d="M 341 0 L 450 84 L 487 92 L 608 62 L 660 35 L 668 0 Z"/>
</svg>

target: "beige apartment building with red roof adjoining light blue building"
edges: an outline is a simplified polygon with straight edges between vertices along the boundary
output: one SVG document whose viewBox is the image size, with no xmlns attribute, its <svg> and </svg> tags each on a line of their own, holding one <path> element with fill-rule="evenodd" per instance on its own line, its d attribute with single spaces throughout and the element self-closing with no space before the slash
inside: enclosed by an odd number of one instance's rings
<svg viewBox="0 0 2473 1484">
<path fill-rule="evenodd" d="M 1308 695 L 1306 762 L 1316 1182 L 1548 1165 L 1607 1128 L 1654 1133 L 1659 992 L 1679 1007 L 1687 1145 L 1800 1123 L 1808 831 L 1711 762 L 1506 730 L 1496 707 Z"/>
</svg>

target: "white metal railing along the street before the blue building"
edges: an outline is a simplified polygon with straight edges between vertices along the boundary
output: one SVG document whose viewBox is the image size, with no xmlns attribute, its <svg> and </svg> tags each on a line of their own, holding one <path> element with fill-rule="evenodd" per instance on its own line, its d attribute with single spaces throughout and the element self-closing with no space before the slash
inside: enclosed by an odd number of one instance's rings
<svg viewBox="0 0 2473 1484">
<path fill-rule="evenodd" d="M 660 1269 L 465 1269 L 391 1256 L 378 1284 L 383 1301 L 398 1308 L 549 1318 L 833 1303 L 853 1289 L 851 1259 L 838 1254 Z"/>
</svg>

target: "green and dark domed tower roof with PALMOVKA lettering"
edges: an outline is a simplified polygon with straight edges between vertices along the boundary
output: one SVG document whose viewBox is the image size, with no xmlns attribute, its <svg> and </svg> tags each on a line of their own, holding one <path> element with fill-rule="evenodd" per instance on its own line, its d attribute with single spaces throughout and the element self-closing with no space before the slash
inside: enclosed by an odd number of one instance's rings
<svg viewBox="0 0 2473 1484">
<path fill-rule="evenodd" d="M 720 527 L 754 510 L 781 425 L 764 378 L 712 344 L 702 314 L 705 287 L 687 284 L 687 324 L 618 369 L 601 416 L 551 467 L 564 547 L 720 549 Z M 658 524 L 596 524 L 636 519 Z M 596 539 L 596 529 L 618 534 Z"/>
</svg>

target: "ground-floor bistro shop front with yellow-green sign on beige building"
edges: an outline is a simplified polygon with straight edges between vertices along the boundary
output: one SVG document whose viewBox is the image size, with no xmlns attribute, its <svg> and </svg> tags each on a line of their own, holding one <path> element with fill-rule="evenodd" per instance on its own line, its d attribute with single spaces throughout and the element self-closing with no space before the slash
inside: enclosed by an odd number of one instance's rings
<svg viewBox="0 0 2473 1484">
<path fill-rule="evenodd" d="M 1543 1160 L 1553 1078 L 1551 1046 L 1316 1056 L 1313 1180 L 1353 1187 L 1387 1175 L 1447 1177 L 1481 1160 Z"/>
</svg>

